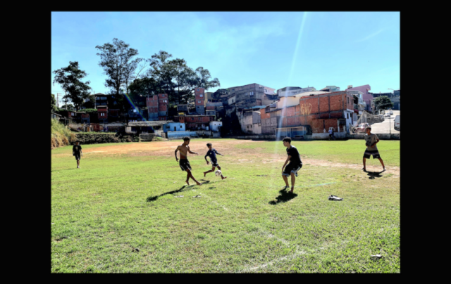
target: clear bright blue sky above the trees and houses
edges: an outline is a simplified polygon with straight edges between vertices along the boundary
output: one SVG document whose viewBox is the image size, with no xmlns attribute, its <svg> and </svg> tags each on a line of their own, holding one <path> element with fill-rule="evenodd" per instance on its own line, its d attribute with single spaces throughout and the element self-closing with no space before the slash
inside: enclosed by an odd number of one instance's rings
<svg viewBox="0 0 451 284">
<path fill-rule="evenodd" d="M 399 12 L 53 12 L 51 71 L 78 61 L 105 93 L 95 46 L 114 37 L 142 58 L 163 50 L 202 66 L 220 88 L 400 89 Z M 58 84 L 51 91 L 63 93 Z"/>
</svg>

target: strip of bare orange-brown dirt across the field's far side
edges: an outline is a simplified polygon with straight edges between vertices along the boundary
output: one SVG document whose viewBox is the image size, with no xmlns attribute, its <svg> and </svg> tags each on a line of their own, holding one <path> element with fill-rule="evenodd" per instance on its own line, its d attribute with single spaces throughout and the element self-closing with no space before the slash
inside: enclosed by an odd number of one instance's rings
<svg viewBox="0 0 451 284">
<path fill-rule="evenodd" d="M 221 143 L 221 152 L 233 153 L 233 156 L 240 157 L 235 160 L 236 163 L 256 162 L 255 150 L 261 150 L 261 148 L 235 148 L 237 144 L 249 144 L 249 143 L 261 143 L 261 141 L 252 140 L 228 140 L 228 141 L 215 141 Z M 105 146 L 93 148 L 92 151 L 83 151 L 87 153 L 102 153 L 101 155 L 130 155 L 130 156 L 166 156 L 174 157 L 174 150 L 178 145 L 181 145 L 181 141 L 158 141 L 158 142 L 142 142 L 142 143 L 128 143 L 118 146 Z M 205 140 L 192 140 L 190 148 L 193 152 L 199 153 L 202 157 L 206 153 L 206 141 Z M 190 154 L 191 156 L 192 154 Z M 228 155 L 228 154 L 225 154 Z M 188 157 L 190 157 L 188 156 Z M 180 157 L 180 154 L 178 154 Z M 266 154 L 259 161 L 264 164 L 268 162 L 285 162 L 285 155 L 280 154 Z M 311 159 L 309 157 L 302 157 L 304 164 L 310 164 L 320 167 L 346 167 L 350 169 L 361 169 L 362 164 L 342 164 L 339 162 L 329 162 L 325 160 Z M 370 169 L 371 170 L 371 169 Z M 394 176 L 400 176 L 399 167 L 386 167 L 386 173 L 393 174 Z"/>
</svg>

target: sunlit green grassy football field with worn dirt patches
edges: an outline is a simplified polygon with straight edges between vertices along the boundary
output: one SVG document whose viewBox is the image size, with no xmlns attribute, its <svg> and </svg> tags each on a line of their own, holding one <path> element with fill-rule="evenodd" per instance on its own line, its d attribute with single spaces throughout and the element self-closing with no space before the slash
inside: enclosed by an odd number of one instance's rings
<svg viewBox="0 0 451 284">
<path fill-rule="evenodd" d="M 228 179 L 204 178 L 208 142 Z M 81 169 L 72 146 L 52 150 L 51 271 L 400 272 L 399 141 L 378 143 L 383 173 L 373 159 L 360 170 L 362 140 L 294 141 L 304 167 L 292 195 L 280 141 L 192 140 L 202 186 L 184 185 L 181 143 L 82 146 Z"/>
</svg>

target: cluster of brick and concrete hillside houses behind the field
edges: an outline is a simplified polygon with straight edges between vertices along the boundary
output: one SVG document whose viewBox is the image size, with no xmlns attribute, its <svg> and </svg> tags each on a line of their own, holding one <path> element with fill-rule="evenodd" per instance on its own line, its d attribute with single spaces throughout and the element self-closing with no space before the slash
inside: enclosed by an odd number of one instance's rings
<svg viewBox="0 0 451 284">
<path fill-rule="evenodd" d="M 122 113 L 112 96 L 94 95 L 97 113 L 68 111 L 68 124 L 79 131 L 120 131 L 156 134 L 165 138 L 213 136 L 233 133 L 290 136 L 324 136 L 332 128 L 340 136 L 350 132 L 362 112 L 375 112 L 373 98 L 387 96 L 370 92 L 369 85 L 326 86 L 316 90 L 308 86 L 272 89 L 248 84 L 221 89 L 215 93 L 194 89 L 194 98 L 177 105 L 177 113 L 168 109 L 168 94 L 146 98 L 146 107 Z M 399 109 L 400 91 L 389 93 Z M 52 117 L 54 114 L 52 114 Z M 223 125 L 224 122 L 224 125 Z M 235 132 L 236 133 L 236 132 Z"/>
</svg>

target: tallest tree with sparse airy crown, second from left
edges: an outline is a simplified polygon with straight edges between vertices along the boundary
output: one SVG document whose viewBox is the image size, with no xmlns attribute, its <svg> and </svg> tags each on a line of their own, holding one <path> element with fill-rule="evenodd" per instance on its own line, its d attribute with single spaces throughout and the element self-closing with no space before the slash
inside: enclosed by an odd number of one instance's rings
<svg viewBox="0 0 451 284">
<path fill-rule="evenodd" d="M 136 70 L 137 63 L 140 63 L 141 58 L 132 60 L 134 56 L 138 55 L 137 49 L 132 49 L 129 44 L 124 41 L 114 38 L 113 44 L 106 43 L 102 46 L 96 46 L 99 49 L 98 56 L 100 56 L 99 66 L 104 69 L 104 74 L 108 76 L 105 86 L 111 89 L 110 93 L 116 96 L 118 101 L 123 101 L 119 98 L 123 96 L 121 86 L 125 84 L 125 91 L 128 91 L 128 83 L 132 79 L 132 73 Z M 125 104 L 121 103 L 121 107 L 125 110 Z"/>
</svg>

